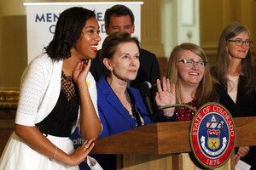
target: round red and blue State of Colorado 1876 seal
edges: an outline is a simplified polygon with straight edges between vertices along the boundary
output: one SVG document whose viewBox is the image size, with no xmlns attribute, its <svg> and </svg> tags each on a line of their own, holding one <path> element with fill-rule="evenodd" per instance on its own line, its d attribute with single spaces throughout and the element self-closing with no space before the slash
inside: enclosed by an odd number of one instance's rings
<svg viewBox="0 0 256 170">
<path fill-rule="evenodd" d="M 229 161 L 236 144 L 236 128 L 230 112 L 218 103 L 202 105 L 191 122 L 191 150 L 203 167 L 217 168 Z"/>
</svg>

